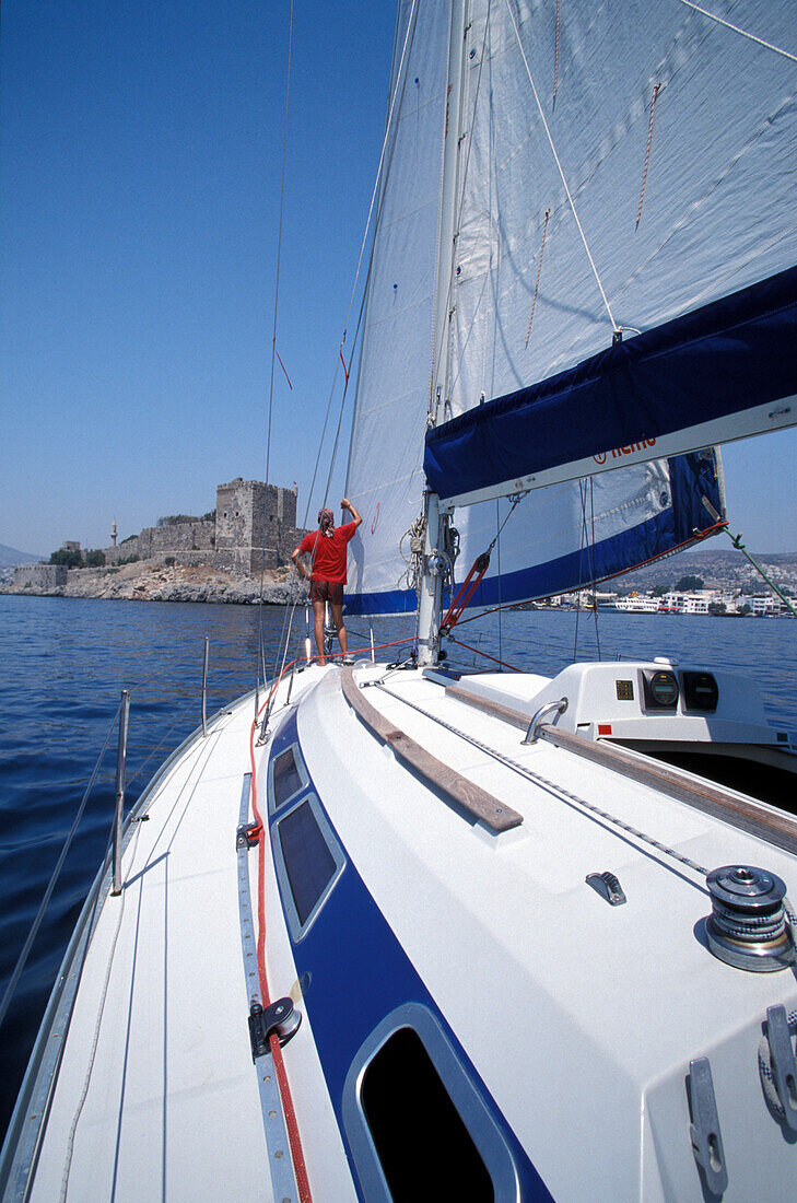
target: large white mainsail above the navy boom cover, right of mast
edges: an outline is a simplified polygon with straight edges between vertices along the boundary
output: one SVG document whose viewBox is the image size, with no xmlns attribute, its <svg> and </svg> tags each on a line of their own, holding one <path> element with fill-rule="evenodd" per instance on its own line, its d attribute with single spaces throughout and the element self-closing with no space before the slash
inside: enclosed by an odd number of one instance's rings
<svg viewBox="0 0 797 1203">
<path fill-rule="evenodd" d="M 797 52 L 787 4 L 707 7 Z M 679 0 L 472 12 L 441 420 L 797 262 L 793 58 Z"/>
</svg>

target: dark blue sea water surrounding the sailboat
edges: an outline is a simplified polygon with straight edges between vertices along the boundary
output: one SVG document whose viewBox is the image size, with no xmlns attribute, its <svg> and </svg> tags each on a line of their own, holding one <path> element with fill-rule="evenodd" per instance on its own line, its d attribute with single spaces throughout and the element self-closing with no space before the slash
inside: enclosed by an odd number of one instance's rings
<svg viewBox="0 0 797 1203">
<path fill-rule="evenodd" d="M 289 627 L 290 623 L 290 627 Z M 120 692 L 130 691 L 126 802 L 201 722 L 204 640 L 207 712 L 304 654 L 304 606 L 190 605 L 0 597 L 0 997 L 38 909 L 85 787 L 108 739 L 95 788 L 64 863 L 47 918 L 0 1031 L 0 1136 L 5 1131 L 53 979 L 105 854 L 114 800 Z M 349 623 L 370 651 L 371 623 Z M 380 659 L 406 656 L 414 618 L 373 621 Z M 797 623 L 706 616 L 597 616 L 505 611 L 456 630 L 469 666 L 554 675 L 573 659 L 667 656 L 741 672 L 762 689 L 771 721 L 797 736 Z M 492 657 L 493 659 L 488 659 Z M 260 669 L 260 674 L 258 674 Z M 254 705 L 252 705 L 254 709 Z"/>
</svg>

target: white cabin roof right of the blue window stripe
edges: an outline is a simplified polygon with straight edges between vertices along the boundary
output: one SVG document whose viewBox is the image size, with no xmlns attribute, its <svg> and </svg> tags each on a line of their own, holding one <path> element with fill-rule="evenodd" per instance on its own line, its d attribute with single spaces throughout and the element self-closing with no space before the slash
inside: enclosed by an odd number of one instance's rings
<svg viewBox="0 0 797 1203">
<path fill-rule="evenodd" d="M 584 1197 L 595 1181 L 605 1197 L 668 1197 L 673 1184 L 672 1197 L 692 1197 L 684 1081 L 709 1053 L 727 1197 L 745 1181 L 754 1189 L 754 1131 L 771 1180 L 791 1181 L 793 1150 L 763 1103 L 757 1043 L 767 1007 L 797 1006 L 795 976 L 710 955 L 701 936 L 710 899 L 695 866 L 763 865 L 793 890 L 793 855 L 564 747 L 523 746 L 516 725 L 418 671 L 361 664 L 353 676 L 388 724 L 522 817 L 494 831 L 408 774 L 347 706 L 334 670 L 299 713 L 338 836 L 554 1197 Z M 519 703 L 523 680 L 513 685 Z M 527 688 L 533 698 L 539 678 Z M 606 871 L 626 905 L 587 884 Z M 546 1106 L 530 1107 L 519 1083 L 545 1083 Z M 615 1157 L 619 1131 L 641 1133 L 636 1163 Z"/>
</svg>

